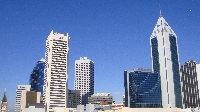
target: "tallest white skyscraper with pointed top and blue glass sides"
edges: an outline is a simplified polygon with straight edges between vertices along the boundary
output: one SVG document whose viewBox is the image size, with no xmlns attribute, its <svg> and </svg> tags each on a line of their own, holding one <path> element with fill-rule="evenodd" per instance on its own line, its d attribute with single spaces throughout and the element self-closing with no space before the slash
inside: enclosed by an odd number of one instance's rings
<svg viewBox="0 0 200 112">
<path fill-rule="evenodd" d="M 150 44 L 153 71 L 161 78 L 163 108 L 182 108 L 177 36 L 161 14 Z"/>
</svg>

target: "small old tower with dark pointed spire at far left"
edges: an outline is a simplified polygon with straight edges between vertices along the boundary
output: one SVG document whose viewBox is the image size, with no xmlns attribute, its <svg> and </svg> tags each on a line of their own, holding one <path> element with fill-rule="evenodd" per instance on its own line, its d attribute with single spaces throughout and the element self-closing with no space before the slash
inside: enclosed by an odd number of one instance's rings
<svg viewBox="0 0 200 112">
<path fill-rule="evenodd" d="M 6 97 L 6 92 L 4 92 L 3 99 L 0 105 L 0 112 L 7 112 L 8 111 L 8 101 Z"/>
</svg>

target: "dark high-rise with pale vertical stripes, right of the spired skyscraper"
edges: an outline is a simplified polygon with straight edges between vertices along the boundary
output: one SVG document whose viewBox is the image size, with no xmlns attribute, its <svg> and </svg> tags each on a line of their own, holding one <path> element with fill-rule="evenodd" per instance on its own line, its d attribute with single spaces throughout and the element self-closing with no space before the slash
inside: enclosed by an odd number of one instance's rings
<svg viewBox="0 0 200 112">
<path fill-rule="evenodd" d="M 180 69 L 183 108 L 199 107 L 200 64 L 187 61 Z"/>
</svg>

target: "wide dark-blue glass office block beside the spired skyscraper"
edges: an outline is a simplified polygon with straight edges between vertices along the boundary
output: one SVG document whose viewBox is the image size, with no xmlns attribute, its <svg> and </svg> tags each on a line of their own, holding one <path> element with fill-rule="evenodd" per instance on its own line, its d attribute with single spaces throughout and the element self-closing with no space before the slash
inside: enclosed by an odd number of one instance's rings
<svg viewBox="0 0 200 112">
<path fill-rule="evenodd" d="M 125 107 L 161 108 L 160 76 L 151 69 L 124 71 Z"/>
</svg>

